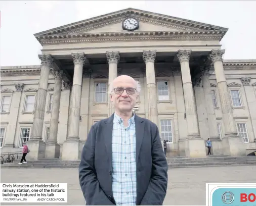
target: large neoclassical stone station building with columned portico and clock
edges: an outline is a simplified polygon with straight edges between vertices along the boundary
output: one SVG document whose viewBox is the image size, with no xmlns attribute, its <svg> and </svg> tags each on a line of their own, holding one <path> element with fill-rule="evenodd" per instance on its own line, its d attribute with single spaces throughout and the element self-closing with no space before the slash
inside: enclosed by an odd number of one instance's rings
<svg viewBox="0 0 256 206">
<path fill-rule="evenodd" d="M 118 75 L 141 84 L 135 113 L 158 125 L 168 156 L 256 148 L 256 60 L 223 60 L 227 28 L 125 9 L 34 34 L 41 65 L 1 67 L 1 152 L 77 160 L 113 107 Z"/>
</svg>

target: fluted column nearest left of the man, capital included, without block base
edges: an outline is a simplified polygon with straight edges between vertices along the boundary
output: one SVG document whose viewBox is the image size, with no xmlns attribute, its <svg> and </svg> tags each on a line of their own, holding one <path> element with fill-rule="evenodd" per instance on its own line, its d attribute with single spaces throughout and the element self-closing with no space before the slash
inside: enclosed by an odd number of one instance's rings
<svg viewBox="0 0 256 206">
<path fill-rule="evenodd" d="M 86 58 L 83 53 L 72 54 L 74 60 L 74 77 L 71 95 L 70 121 L 67 139 L 79 139 L 79 121 L 81 105 L 82 67 Z"/>
</svg>

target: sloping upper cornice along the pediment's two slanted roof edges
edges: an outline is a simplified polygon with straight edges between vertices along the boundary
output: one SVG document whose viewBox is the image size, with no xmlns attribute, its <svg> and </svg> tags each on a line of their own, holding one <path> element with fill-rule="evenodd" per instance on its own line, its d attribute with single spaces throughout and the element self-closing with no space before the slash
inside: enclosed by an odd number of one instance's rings
<svg viewBox="0 0 256 206">
<path fill-rule="evenodd" d="M 148 22 L 151 21 L 151 23 L 156 22 L 158 25 L 172 24 L 172 27 L 182 28 L 184 30 L 201 30 L 201 31 L 222 30 L 225 32 L 228 31 L 228 29 L 224 27 L 219 27 L 219 26 L 214 26 L 214 25 L 205 24 L 201 22 L 196 22 L 196 21 L 176 18 L 172 16 L 147 12 L 143 10 L 128 8 L 128 9 L 116 11 L 113 13 L 101 15 L 98 17 L 94 17 L 91 19 L 71 23 L 71 24 L 50 29 L 47 31 L 39 32 L 34 34 L 34 36 L 37 37 L 41 35 L 56 35 L 56 34 L 62 35 L 64 33 L 73 33 L 77 31 L 80 32 L 83 30 L 95 29 L 98 27 L 105 26 L 106 24 L 109 24 L 109 23 L 121 21 L 121 19 L 124 19 L 125 17 L 129 17 L 129 16 L 135 17 L 140 21 L 143 21 L 143 20 Z"/>
</svg>

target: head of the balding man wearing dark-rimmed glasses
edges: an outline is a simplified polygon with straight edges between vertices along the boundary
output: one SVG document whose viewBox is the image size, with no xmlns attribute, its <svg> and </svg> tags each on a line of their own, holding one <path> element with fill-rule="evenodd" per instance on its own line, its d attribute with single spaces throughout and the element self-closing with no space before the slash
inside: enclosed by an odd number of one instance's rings
<svg viewBox="0 0 256 206">
<path fill-rule="evenodd" d="M 132 112 L 141 86 L 134 78 L 126 75 L 116 77 L 109 85 L 110 100 L 119 113 Z"/>
</svg>

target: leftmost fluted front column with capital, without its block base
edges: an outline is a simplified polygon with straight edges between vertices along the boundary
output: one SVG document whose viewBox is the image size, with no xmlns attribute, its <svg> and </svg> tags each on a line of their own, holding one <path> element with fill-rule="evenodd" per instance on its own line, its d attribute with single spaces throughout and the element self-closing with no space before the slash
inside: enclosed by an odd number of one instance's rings
<svg viewBox="0 0 256 206">
<path fill-rule="evenodd" d="M 38 91 L 35 99 L 35 111 L 30 140 L 42 139 L 42 125 L 44 123 L 45 117 L 46 94 L 48 87 L 49 72 L 53 63 L 53 58 L 51 55 L 40 55 L 39 59 L 41 60 L 41 72 Z"/>
</svg>

